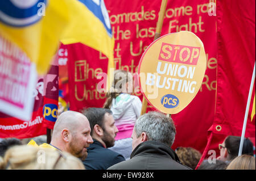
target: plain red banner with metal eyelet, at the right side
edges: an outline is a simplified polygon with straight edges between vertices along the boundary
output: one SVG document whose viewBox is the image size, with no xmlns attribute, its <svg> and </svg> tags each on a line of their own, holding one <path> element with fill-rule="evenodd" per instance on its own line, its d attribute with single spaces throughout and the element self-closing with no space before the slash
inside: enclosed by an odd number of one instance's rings
<svg viewBox="0 0 256 181">
<path fill-rule="evenodd" d="M 218 156 L 218 144 L 226 136 L 242 134 L 255 62 L 255 1 L 217 1 L 217 41 L 216 114 L 209 129 L 213 138 L 212 141 L 208 140 L 210 146 L 205 148 L 204 153 L 215 149 Z M 255 116 L 253 121 L 250 120 L 253 97 L 245 137 L 250 137 L 255 145 Z"/>
</svg>

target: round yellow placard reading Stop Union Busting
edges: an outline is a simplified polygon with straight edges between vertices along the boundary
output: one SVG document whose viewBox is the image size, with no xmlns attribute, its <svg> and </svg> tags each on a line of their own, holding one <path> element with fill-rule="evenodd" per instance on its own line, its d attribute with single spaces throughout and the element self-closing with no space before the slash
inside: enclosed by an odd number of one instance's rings
<svg viewBox="0 0 256 181">
<path fill-rule="evenodd" d="M 178 113 L 195 98 L 206 64 L 204 44 L 194 33 L 180 31 L 159 37 L 139 62 L 142 94 L 159 111 Z"/>
</svg>

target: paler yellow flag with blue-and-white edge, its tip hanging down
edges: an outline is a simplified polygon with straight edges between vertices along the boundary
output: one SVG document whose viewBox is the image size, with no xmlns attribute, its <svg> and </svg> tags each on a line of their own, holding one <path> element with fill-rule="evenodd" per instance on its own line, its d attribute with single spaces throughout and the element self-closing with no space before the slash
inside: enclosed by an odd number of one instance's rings
<svg viewBox="0 0 256 181">
<path fill-rule="evenodd" d="M 107 90 L 113 81 L 114 72 L 114 37 L 108 11 L 103 0 L 65 1 L 69 7 L 69 24 L 61 36 L 63 44 L 80 42 L 88 45 L 109 58 Z M 113 70 L 113 71 L 111 71 Z"/>
</svg>

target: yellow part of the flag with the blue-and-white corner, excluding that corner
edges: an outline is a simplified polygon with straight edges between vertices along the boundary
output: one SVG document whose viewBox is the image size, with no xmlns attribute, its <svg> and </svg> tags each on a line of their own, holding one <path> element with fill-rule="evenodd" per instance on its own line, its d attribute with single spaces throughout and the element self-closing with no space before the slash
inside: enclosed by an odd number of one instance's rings
<svg viewBox="0 0 256 181">
<path fill-rule="evenodd" d="M 108 35 L 104 24 L 84 4 L 79 1 L 65 2 L 69 7 L 68 15 L 72 23 L 61 36 L 61 42 L 63 44 L 80 42 L 104 53 L 109 58 L 106 88 L 109 90 L 110 83 L 113 81 L 113 71 L 110 69 L 114 69 L 114 36 Z"/>
</svg>

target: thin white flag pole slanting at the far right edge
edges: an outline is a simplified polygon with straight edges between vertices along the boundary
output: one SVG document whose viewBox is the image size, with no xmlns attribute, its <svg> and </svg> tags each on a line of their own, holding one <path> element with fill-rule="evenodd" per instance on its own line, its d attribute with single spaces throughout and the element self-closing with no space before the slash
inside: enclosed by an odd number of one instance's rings
<svg viewBox="0 0 256 181">
<path fill-rule="evenodd" d="M 246 129 L 246 123 L 247 123 L 247 118 L 248 118 L 248 113 L 249 113 L 249 108 L 250 108 L 251 94 L 253 92 L 254 79 L 255 79 L 255 62 L 254 62 L 253 76 L 251 77 L 251 85 L 250 85 L 249 95 L 248 95 L 248 99 L 247 99 L 245 118 L 243 119 L 243 129 L 242 129 L 242 135 L 241 135 L 238 156 L 240 156 L 242 154 L 243 140 L 245 138 L 245 129 Z"/>
</svg>

